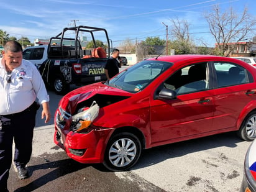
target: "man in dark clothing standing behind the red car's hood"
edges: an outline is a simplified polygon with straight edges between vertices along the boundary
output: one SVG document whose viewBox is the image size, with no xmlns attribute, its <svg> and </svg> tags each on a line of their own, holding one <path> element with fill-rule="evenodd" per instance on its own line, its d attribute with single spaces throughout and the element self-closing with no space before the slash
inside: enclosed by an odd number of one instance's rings
<svg viewBox="0 0 256 192">
<path fill-rule="evenodd" d="M 107 60 L 107 64 L 105 66 L 105 74 L 107 80 L 110 80 L 113 76 L 119 73 L 119 68 L 121 67 L 121 63 L 117 61 L 119 57 L 119 50 L 117 48 L 113 49 L 111 57 Z"/>
</svg>

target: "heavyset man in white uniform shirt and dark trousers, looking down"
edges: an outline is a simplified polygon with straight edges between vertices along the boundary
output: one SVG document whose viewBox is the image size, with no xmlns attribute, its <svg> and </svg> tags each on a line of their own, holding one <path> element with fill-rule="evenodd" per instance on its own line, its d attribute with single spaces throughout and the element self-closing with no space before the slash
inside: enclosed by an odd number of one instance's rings
<svg viewBox="0 0 256 192">
<path fill-rule="evenodd" d="M 50 121 L 49 96 L 37 68 L 22 59 L 21 44 L 8 41 L 0 58 L 0 191 L 7 190 L 15 143 L 14 163 L 19 178 L 29 177 L 26 164 L 32 153 L 33 130 L 38 104 L 42 119 Z"/>
</svg>

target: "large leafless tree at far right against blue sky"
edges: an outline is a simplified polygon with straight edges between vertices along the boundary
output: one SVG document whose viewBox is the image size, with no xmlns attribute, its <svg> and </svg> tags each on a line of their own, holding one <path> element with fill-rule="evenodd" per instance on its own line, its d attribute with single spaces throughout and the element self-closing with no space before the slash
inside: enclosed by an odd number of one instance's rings
<svg viewBox="0 0 256 192">
<path fill-rule="evenodd" d="M 232 7 L 221 11 L 219 6 L 213 7 L 213 12 L 204 14 L 209 24 L 209 30 L 216 40 L 218 55 L 228 56 L 234 46 L 232 43 L 245 39 L 252 32 L 256 19 L 248 14 L 247 7 L 242 14 L 235 14 Z"/>
</svg>

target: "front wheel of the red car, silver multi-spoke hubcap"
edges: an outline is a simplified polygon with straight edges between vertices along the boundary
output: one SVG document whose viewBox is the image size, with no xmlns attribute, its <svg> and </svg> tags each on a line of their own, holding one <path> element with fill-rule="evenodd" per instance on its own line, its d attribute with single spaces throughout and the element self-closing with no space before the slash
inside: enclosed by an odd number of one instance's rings
<svg viewBox="0 0 256 192">
<path fill-rule="evenodd" d="M 137 163 L 142 151 L 140 140 L 129 132 L 111 137 L 105 153 L 103 165 L 111 171 L 128 170 Z"/>
</svg>

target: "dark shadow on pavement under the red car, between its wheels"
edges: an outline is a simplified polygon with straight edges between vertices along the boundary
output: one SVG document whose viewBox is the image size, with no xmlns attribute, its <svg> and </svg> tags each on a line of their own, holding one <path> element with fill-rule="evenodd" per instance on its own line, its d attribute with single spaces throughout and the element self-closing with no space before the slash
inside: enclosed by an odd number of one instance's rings
<svg viewBox="0 0 256 192">
<path fill-rule="evenodd" d="M 217 147 L 226 146 L 232 149 L 237 147 L 237 143 L 239 142 L 244 142 L 244 140 L 241 140 L 235 132 L 227 132 L 224 134 L 211 135 L 208 137 L 153 147 L 152 149 L 142 151 L 139 162 L 132 167 L 132 170 L 150 167 L 170 158 L 182 157 L 190 153 Z"/>
</svg>

